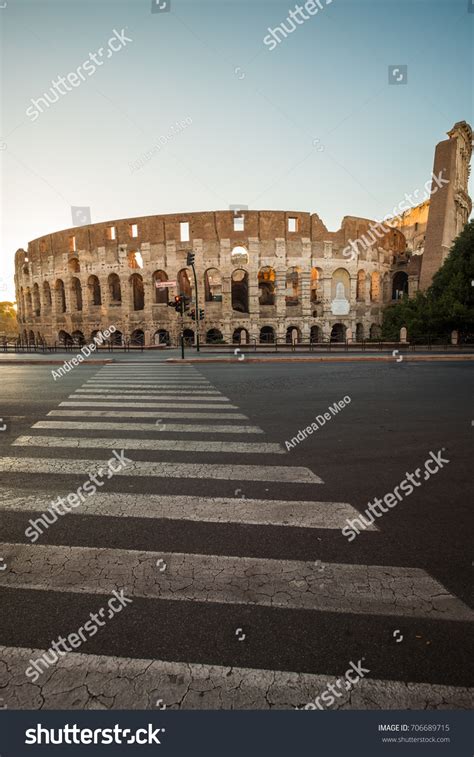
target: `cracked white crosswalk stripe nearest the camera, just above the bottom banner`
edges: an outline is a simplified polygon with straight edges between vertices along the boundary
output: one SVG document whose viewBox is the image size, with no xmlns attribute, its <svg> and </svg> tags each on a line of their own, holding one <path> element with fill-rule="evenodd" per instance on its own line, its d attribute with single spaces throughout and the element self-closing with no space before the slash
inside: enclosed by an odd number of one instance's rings
<svg viewBox="0 0 474 757">
<path fill-rule="evenodd" d="M 12 679 L 24 681 L 25 670 L 36 663 L 46 669 L 41 648 L 0 647 L 0 662 L 11 670 Z M 168 709 L 186 710 L 264 710 L 301 708 L 314 703 L 315 697 L 334 686 L 334 676 L 315 673 L 288 673 L 281 670 L 203 665 L 168 660 L 139 659 L 85 654 L 83 651 L 59 657 L 52 670 L 62 682 L 61 696 L 51 685 L 41 691 L 44 710 L 84 709 L 91 699 L 89 687 L 110 698 L 118 710 L 153 710 L 158 699 Z M 118 685 L 118 671 L 126 686 Z M 51 677 L 46 671 L 44 678 Z M 41 680 L 39 684 L 41 683 Z M 38 685 L 39 685 L 38 684 Z M 13 685 L 4 689 L 11 696 Z M 22 686 L 23 706 L 38 707 L 38 686 Z M 470 710 L 472 689 L 428 683 L 406 683 L 380 678 L 362 678 L 357 688 L 338 692 L 338 709 L 423 710 L 426 702 L 445 708 L 457 702 L 459 709 Z M 354 705 L 355 700 L 355 705 Z M 97 699 L 101 705 L 100 699 Z M 320 702 L 321 704 L 321 702 Z M 90 705 L 89 705 L 90 706 Z M 160 705 L 161 706 L 161 705 Z M 316 705 L 313 704 L 316 708 Z"/>
</svg>

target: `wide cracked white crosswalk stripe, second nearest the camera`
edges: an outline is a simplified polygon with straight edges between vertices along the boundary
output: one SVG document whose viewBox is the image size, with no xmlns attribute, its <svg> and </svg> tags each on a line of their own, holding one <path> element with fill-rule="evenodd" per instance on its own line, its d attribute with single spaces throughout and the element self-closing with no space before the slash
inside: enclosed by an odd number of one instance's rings
<svg viewBox="0 0 474 757">
<path fill-rule="evenodd" d="M 127 595 L 335 613 L 473 620 L 474 612 L 418 568 L 270 560 L 179 552 L 0 543 L 9 570 L 3 585 L 111 594 L 117 569 Z M 159 562 L 161 561 L 161 562 Z M 166 570 L 158 565 L 166 563 Z M 87 567 L 93 570 L 87 572 Z M 96 576 L 100 575 L 100 585 Z M 191 581 L 190 579 L 196 580 Z M 199 580 L 200 579 L 200 580 Z M 396 594 L 385 585 L 396 585 Z"/>
</svg>

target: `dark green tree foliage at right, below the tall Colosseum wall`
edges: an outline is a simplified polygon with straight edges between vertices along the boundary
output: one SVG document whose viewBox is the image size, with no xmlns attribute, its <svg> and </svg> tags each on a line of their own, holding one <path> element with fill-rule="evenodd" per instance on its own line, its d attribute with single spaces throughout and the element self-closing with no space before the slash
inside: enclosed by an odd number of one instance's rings
<svg viewBox="0 0 474 757">
<path fill-rule="evenodd" d="M 384 339 L 396 340 L 406 326 L 408 340 L 447 337 L 456 329 L 464 338 L 474 336 L 474 220 L 470 221 L 436 272 L 429 289 L 413 299 L 389 305 L 383 314 Z"/>
</svg>

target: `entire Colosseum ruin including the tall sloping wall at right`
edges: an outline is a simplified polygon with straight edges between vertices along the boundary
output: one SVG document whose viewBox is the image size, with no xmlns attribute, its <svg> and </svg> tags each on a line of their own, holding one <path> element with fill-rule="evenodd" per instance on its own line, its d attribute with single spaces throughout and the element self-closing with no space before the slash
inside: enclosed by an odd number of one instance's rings
<svg viewBox="0 0 474 757">
<path fill-rule="evenodd" d="M 328 231 L 316 214 L 241 209 L 127 218 L 35 239 L 15 256 L 21 333 L 83 344 L 114 326 L 116 344 L 153 347 L 178 344 L 183 330 L 192 343 L 196 322 L 168 306 L 176 294 L 195 301 L 192 250 L 201 341 L 376 338 L 383 308 L 429 284 L 468 220 L 471 143 L 470 127 L 455 124 L 435 153 L 433 173 L 445 171 L 446 186 L 383 225 L 346 216 Z"/>
</svg>

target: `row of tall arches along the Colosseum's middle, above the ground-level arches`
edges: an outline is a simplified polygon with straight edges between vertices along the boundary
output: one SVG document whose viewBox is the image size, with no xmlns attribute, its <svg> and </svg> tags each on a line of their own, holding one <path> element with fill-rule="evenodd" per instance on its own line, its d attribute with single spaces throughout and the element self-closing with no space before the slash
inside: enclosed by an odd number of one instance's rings
<svg viewBox="0 0 474 757">
<path fill-rule="evenodd" d="M 381 283 L 380 274 L 374 271 L 368 276 L 365 271 L 358 271 L 356 298 L 360 301 L 366 299 L 366 286 L 369 281 L 369 296 L 372 302 L 380 301 Z M 163 286 L 168 281 L 166 271 L 158 270 L 152 276 L 153 284 L 153 304 L 166 304 L 171 297 L 170 288 Z M 312 303 L 321 301 L 322 292 L 320 288 L 321 271 L 318 268 L 311 269 L 310 278 L 310 300 Z M 285 302 L 287 307 L 299 305 L 301 302 L 301 269 L 297 266 L 289 268 L 286 272 Z M 69 301 L 70 308 L 74 311 L 82 311 L 86 307 L 99 307 L 103 304 L 103 295 L 101 284 L 97 276 L 91 275 L 87 280 L 85 293 L 80 279 L 72 276 L 69 283 Z M 143 310 L 145 307 L 145 287 L 143 276 L 140 273 L 133 273 L 129 277 L 130 287 L 130 306 L 133 310 Z M 122 283 L 116 273 L 109 274 L 107 278 L 109 306 L 119 306 L 122 304 Z M 177 275 L 176 291 L 193 298 L 193 283 L 190 271 L 183 268 Z M 173 290 L 174 292 L 174 290 Z M 270 266 L 261 268 L 258 272 L 258 292 L 259 304 L 261 306 L 273 306 L 276 303 L 276 272 Z M 337 269 L 332 275 L 331 295 L 334 298 L 339 292 L 343 292 L 346 299 L 350 300 L 350 277 L 344 268 Z M 392 280 L 392 299 L 399 299 L 408 293 L 408 276 L 404 271 L 398 271 Z M 21 304 L 25 315 L 41 315 L 42 307 L 48 311 L 53 306 L 56 313 L 66 312 L 66 287 L 62 279 L 57 279 L 53 290 L 50 284 L 43 283 L 42 296 L 38 284 L 33 288 L 25 291 L 20 290 Z M 222 276 L 217 268 L 209 268 L 204 273 L 204 299 L 205 302 L 222 302 Z M 231 275 L 231 304 L 232 309 L 240 313 L 249 312 L 249 274 L 243 268 L 238 268 Z"/>
</svg>

